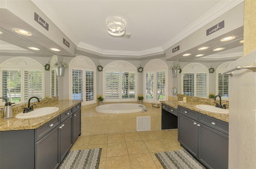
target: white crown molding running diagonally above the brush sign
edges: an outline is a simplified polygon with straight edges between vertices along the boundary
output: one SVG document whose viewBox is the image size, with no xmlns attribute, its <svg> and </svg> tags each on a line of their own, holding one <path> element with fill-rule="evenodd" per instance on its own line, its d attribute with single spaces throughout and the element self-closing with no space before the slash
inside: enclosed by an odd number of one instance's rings
<svg viewBox="0 0 256 169">
<path fill-rule="evenodd" d="M 38 3 L 38 0 L 31 0 L 38 8 L 41 10 L 76 46 L 79 43 L 79 40 L 76 38 L 76 35 L 67 24 L 60 17 L 60 15 L 52 8 L 50 1 L 45 0 L 44 5 Z"/>
</svg>

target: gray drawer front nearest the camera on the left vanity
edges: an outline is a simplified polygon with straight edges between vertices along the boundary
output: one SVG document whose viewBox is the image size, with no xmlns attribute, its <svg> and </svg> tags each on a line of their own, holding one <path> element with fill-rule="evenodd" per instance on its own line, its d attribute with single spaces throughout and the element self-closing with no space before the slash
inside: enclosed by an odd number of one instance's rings
<svg viewBox="0 0 256 169">
<path fill-rule="evenodd" d="M 42 137 L 44 137 L 46 134 L 52 131 L 59 124 L 60 124 L 60 116 L 55 117 L 54 119 L 48 121 L 44 125 L 35 129 L 35 142 L 40 140 Z"/>
</svg>

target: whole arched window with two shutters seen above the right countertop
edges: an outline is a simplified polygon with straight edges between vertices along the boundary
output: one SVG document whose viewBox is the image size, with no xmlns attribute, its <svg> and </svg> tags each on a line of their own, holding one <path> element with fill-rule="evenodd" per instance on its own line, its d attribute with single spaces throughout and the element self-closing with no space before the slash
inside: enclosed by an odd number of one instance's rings
<svg viewBox="0 0 256 169">
<path fill-rule="evenodd" d="M 208 69 L 192 63 L 182 69 L 182 94 L 208 98 Z"/>
</svg>

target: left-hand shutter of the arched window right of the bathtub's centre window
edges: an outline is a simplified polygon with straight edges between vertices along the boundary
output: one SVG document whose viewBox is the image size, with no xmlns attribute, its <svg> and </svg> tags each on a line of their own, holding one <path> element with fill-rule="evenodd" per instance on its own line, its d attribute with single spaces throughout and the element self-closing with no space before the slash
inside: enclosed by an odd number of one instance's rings
<svg viewBox="0 0 256 169">
<path fill-rule="evenodd" d="M 146 99 L 153 100 L 154 99 L 154 72 L 146 72 L 146 90 L 145 96 Z"/>
</svg>

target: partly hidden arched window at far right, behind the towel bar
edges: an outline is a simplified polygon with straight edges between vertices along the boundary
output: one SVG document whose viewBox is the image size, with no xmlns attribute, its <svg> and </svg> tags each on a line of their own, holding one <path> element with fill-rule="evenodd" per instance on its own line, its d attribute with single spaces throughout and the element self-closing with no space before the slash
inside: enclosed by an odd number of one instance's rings
<svg viewBox="0 0 256 169">
<path fill-rule="evenodd" d="M 223 100 L 228 100 L 228 82 L 229 75 L 222 75 L 226 72 L 227 68 L 232 62 L 225 62 L 216 68 L 216 95 L 220 95 Z"/>
</svg>

